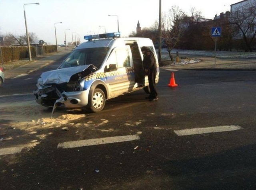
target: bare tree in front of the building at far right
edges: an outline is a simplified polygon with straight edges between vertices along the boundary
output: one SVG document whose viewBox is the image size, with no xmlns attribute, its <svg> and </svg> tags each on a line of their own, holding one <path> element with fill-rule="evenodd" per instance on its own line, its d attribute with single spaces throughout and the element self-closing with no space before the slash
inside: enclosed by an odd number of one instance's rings
<svg viewBox="0 0 256 190">
<path fill-rule="evenodd" d="M 243 39 L 244 50 L 252 51 L 253 42 L 256 36 L 256 6 L 255 0 L 236 5 L 231 8 L 231 24 L 235 27 L 235 39 Z"/>
</svg>

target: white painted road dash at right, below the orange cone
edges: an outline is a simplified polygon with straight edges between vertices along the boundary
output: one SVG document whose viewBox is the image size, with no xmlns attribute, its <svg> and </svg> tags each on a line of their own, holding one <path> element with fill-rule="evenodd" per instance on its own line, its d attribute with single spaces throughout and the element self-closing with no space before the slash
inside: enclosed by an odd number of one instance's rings
<svg viewBox="0 0 256 190">
<path fill-rule="evenodd" d="M 238 125 L 225 125 L 225 126 L 216 126 L 216 127 L 174 130 L 174 133 L 176 133 L 176 135 L 178 135 L 178 136 L 185 136 L 185 135 L 197 135 L 197 134 L 203 134 L 203 133 L 235 131 L 235 130 L 239 130 L 239 129 L 242 129 L 242 127 L 240 127 Z"/>
</svg>

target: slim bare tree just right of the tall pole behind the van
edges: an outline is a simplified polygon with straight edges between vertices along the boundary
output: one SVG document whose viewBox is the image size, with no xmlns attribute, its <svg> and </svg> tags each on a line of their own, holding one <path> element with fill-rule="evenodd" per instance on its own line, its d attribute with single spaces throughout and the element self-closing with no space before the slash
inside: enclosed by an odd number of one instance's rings
<svg viewBox="0 0 256 190">
<path fill-rule="evenodd" d="M 162 37 L 171 60 L 173 60 L 171 51 L 182 37 L 185 29 L 183 25 L 185 17 L 185 12 L 178 6 L 172 6 L 162 17 Z"/>
</svg>

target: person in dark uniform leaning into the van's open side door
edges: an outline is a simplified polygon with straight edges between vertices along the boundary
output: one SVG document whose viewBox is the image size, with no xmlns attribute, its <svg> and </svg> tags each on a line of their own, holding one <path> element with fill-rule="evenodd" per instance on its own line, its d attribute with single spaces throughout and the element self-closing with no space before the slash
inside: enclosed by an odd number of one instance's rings
<svg viewBox="0 0 256 190">
<path fill-rule="evenodd" d="M 149 101 L 155 101 L 158 99 L 158 95 L 156 92 L 156 58 L 154 56 L 153 51 L 143 46 L 141 48 L 143 53 L 143 67 L 146 75 L 148 75 L 148 83 L 150 88 L 150 95 L 146 98 Z"/>
</svg>

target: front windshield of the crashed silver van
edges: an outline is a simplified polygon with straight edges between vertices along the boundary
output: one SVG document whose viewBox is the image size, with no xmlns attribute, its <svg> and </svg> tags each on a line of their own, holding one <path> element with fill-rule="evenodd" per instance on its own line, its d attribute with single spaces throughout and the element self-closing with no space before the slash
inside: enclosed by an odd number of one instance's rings
<svg viewBox="0 0 256 190">
<path fill-rule="evenodd" d="M 91 64 L 99 69 L 108 50 L 108 47 L 76 49 L 60 65 L 59 69 Z"/>
</svg>

